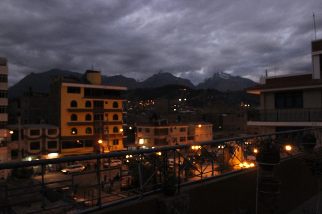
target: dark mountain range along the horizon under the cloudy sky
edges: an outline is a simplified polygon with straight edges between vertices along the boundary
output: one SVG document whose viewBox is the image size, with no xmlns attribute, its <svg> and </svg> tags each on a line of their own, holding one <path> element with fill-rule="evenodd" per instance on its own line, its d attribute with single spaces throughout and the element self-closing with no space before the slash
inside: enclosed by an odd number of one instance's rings
<svg viewBox="0 0 322 214">
<path fill-rule="evenodd" d="M 29 88 L 36 93 L 49 93 L 49 85 L 52 76 L 74 76 L 81 78 L 82 73 L 71 72 L 62 69 L 51 69 L 42 73 L 30 73 L 15 85 L 9 88 L 9 98 L 19 98 Z M 231 76 L 227 73 L 214 73 L 212 77 L 206 78 L 197 86 L 192 84 L 190 80 L 175 77 L 168 72 L 156 73 L 145 81 L 139 82 L 133 78 L 128 78 L 123 75 L 105 76 L 101 77 L 102 85 L 125 86 L 128 89 L 137 88 L 157 88 L 165 85 L 182 85 L 191 89 L 216 89 L 219 91 L 236 91 L 243 90 L 246 87 L 256 85 L 258 83 L 250 79 L 242 78 L 240 76 Z"/>
</svg>

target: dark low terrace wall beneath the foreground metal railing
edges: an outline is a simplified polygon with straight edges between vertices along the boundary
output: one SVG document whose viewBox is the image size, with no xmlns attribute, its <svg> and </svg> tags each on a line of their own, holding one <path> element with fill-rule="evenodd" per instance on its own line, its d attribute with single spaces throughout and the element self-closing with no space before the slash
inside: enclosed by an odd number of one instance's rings
<svg viewBox="0 0 322 214">
<path fill-rule="evenodd" d="M 303 162 L 302 157 L 292 158 L 275 168 L 274 175 L 281 181 L 281 192 L 274 213 L 287 213 L 317 193 L 317 178 Z M 257 170 L 252 169 L 186 186 L 181 193 L 189 195 L 189 213 L 233 213 L 240 209 L 255 213 L 256 178 Z M 158 213 L 158 198 L 148 196 L 93 213 Z M 271 212 L 259 202 L 258 213 Z"/>
</svg>

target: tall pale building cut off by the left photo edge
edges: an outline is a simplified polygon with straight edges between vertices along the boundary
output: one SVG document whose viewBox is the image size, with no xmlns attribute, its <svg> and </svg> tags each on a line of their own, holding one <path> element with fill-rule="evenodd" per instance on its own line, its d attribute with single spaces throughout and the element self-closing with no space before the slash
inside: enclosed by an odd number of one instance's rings
<svg viewBox="0 0 322 214">
<path fill-rule="evenodd" d="M 7 122 L 8 122 L 8 65 L 7 59 L 0 57 L 0 163 L 8 161 Z M 8 170 L 0 170 L 0 179 L 5 179 Z"/>
</svg>

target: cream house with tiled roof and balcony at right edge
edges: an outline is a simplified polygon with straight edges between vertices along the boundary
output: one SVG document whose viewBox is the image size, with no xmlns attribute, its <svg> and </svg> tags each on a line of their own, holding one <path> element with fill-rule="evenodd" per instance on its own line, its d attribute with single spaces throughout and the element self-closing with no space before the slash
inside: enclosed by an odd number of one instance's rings
<svg viewBox="0 0 322 214">
<path fill-rule="evenodd" d="M 260 110 L 248 112 L 247 125 L 267 132 L 322 126 L 322 39 L 312 41 L 313 72 L 260 78 L 246 88 L 260 95 Z"/>
</svg>

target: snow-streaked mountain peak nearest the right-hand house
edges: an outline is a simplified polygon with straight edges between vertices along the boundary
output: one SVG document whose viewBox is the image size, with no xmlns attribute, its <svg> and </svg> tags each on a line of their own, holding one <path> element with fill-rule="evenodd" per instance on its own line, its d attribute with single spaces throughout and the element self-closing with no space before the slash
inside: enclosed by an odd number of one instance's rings
<svg viewBox="0 0 322 214">
<path fill-rule="evenodd" d="M 206 78 L 197 85 L 197 88 L 238 91 L 257 84 L 258 83 L 250 79 L 242 78 L 240 76 L 231 76 L 230 74 L 221 72 L 214 73 L 212 77 Z"/>
</svg>

